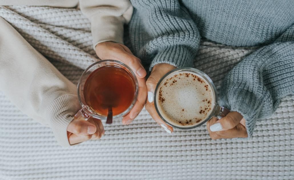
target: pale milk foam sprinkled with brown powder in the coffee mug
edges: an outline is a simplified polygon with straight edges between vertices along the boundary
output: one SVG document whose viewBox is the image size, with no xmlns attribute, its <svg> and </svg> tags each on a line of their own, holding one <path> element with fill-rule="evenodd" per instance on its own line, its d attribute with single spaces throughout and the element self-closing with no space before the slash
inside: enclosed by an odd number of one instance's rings
<svg viewBox="0 0 294 180">
<path fill-rule="evenodd" d="M 208 82 L 191 72 L 169 74 L 156 97 L 161 116 L 178 127 L 191 127 L 208 118 L 214 94 Z"/>
</svg>

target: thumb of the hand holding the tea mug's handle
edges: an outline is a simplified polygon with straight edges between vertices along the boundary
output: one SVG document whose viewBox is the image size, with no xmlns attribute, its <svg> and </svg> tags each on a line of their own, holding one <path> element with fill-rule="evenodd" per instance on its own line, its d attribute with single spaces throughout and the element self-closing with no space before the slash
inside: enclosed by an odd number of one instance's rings
<svg viewBox="0 0 294 180">
<path fill-rule="evenodd" d="M 96 125 L 82 119 L 74 119 L 67 126 L 67 131 L 77 135 L 94 134 Z"/>
</svg>

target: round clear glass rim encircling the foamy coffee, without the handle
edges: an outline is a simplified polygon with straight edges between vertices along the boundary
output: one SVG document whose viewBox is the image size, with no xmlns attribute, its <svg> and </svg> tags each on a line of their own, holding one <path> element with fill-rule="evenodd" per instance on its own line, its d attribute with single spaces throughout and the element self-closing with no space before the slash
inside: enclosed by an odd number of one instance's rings
<svg viewBox="0 0 294 180">
<path fill-rule="evenodd" d="M 196 124 L 196 125 L 194 125 L 194 126 L 189 126 L 189 127 L 179 127 L 179 126 L 173 125 L 173 124 L 169 123 L 167 120 L 165 120 L 165 119 L 161 116 L 161 113 L 159 112 L 159 110 L 158 110 L 158 108 L 157 108 L 157 103 L 156 103 L 156 102 L 157 102 L 157 99 L 156 99 L 156 96 L 157 96 L 157 91 L 158 91 L 159 86 L 161 85 L 162 81 L 163 81 L 168 75 L 172 74 L 173 72 L 180 71 L 180 70 L 187 70 L 187 71 L 190 70 L 190 72 L 192 71 L 192 72 L 198 72 L 198 73 L 200 73 L 200 74 L 201 74 L 201 78 L 205 77 L 204 79 L 208 81 L 208 83 L 209 83 L 209 85 L 211 86 L 211 89 L 212 89 L 212 91 L 213 91 L 213 94 L 214 94 L 213 110 L 211 111 L 211 113 L 209 114 L 209 116 L 208 116 L 205 120 L 203 120 L 201 123 L 198 123 L 198 124 Z M 197 75 L 198 75 L 198 74 L 197 74 Z M 201 70 L 196 69 L 196 68 L 193 68 L 193 67 L 181 67 L 181 68 L 176 68 L 176 69 L 173 69 L 173 70 L 171 70 L 170 72 L 166 73 L 163 77 L 161 77 L 161 79 L 160 79 L 160 80 L 158 81 L 158 83 L 156 84 L 156 88 L 155 88 L 155 91 L 154 91 L 154 97 L 153 97 L 153 99 L 154 99 L 154 106 L 155 106 L 156 112 L 157 112 L 157 114 L 160 116 L 160 118 L 161 118 L 165 123 L 167 123 L 168 125 L 171 125 L 172 127 L 174 127 L 174 128 L 178 128 L 178 129 L 193 129 L 193 128 L 197 128 L 197 127 L 203 125 L 204 123 L 206 123 L 206 122 L 212 117 L 211 115 L 213 115 L 213 114 L 215 113 L 216 108 L 217 108 L 217 106 L 218 106 L 218 103 L 217 103 L 217 95 L 216 95 L 216 87 L 214 86 L 213 81 L 211 80 L 211 78 L 210 78 L 207 74 L 205 74 L 205 73 L 202 72 Z"/>
</svg>

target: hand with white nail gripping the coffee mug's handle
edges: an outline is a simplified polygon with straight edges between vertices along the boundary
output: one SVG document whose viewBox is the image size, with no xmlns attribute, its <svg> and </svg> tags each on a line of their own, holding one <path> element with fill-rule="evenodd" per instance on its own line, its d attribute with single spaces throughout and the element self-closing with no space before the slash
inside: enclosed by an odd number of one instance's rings
<svg viewBox="0 0 294 180">
<path fill-rule="evenodd" d="M 236 111 L 221 119 L 211 118 L 206 125 L 211 139 L 248 137 L 245 119 Z"/>
</svg>

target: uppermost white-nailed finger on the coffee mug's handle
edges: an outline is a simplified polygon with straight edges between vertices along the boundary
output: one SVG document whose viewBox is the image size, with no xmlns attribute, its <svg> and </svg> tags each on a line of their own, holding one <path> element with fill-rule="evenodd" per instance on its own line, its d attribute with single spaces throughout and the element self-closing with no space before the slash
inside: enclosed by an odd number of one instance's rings
<svg viewBox="0 0 294 180">
<path fill-rule="evenodd" d="M 216 121 L 209 128 L 212 132 L 232 129 L 240 123 L 242 118 L 243 116 L 240 113 L 232 111 L 229 112 L 225 117 Z"/>
</svg>

